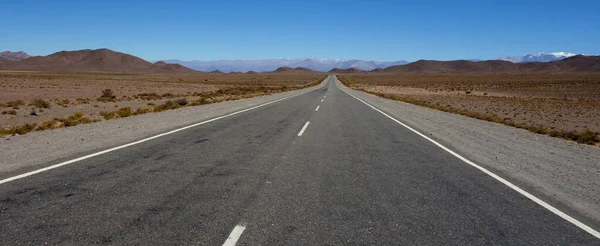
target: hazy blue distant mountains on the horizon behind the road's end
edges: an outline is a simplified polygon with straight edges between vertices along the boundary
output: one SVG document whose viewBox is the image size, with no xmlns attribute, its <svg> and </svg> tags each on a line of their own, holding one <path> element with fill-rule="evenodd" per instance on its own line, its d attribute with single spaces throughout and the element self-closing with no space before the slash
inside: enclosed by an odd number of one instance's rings
<svg viewBox="0 0 600 246">
<path fill-rule="evenodd" d="M 342 60 L 306 57 L 299 59 L 269 59 L 269 60 L 217 60 L 217 61 L 181 61 L 166 60 L 167 63 L 177 63 L 183 66 L 200 70 L 222 72 L 265 72 L 273 71 L 279 67 L 305 67 L 308 69 L 326 72 L 334 68 L 356 68 L 360 70 L 373 70 L 376 68 L 386 68 L 394 65 L 403 65 L 407 61 L 395 62 L 377 62 L 363 60 Z"/>
</svg>

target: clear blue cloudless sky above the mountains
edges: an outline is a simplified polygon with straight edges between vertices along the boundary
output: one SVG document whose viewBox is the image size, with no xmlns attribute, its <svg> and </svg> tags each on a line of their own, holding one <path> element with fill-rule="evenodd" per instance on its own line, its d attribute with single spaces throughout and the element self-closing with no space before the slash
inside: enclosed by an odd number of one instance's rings
<svg viewBox="0 0 600 246">
<path fill-rule="evenodd" d="M 0 0 L 0 50 L 147 60 L 600 54 L 600 1 Z"/>
</svg>

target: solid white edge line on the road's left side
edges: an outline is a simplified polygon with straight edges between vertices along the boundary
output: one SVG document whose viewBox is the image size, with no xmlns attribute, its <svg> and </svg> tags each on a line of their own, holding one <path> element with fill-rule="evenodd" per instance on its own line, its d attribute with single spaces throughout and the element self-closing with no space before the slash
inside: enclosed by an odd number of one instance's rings
<svg viewBox="0 0 600 246">
<path fill-rule="evenodd" d="M 112 152 L 112 151 L 115 151 L 115 150 L 127 148 L 129 146 L 133 146 L 133 145 L 140 144 L 140 143 L 143 143 L 143 142 L 146 142 L 146 141 L 150 141 L 150 140 L 155 139 L 155 138 L 159 138 L 159 137 L 163 137 L 163 136 L 166 136 L 166 135 L 170 135 L 170 134 L 173 134 L 173 133 L 176 133 L 176 132 L 179 132 L 179 131 L 183 131 L 183 130 L 186 130 L 186 129 L 189 129 L 189 128 L 192 128 L 192 127 L 196 127 L 196 126 L 203 125 L 203 124 L 206 124 L 206 123 L 209 123 L 209 122 L 213 122 L 213 121 L 216 121 L 216 120 L 220 120 L 220 119 L 223 119 L 223 118 L 234 116 L 236 114 L 243 113 L 243 112 L 246 112 L 246 111 L 250 111 L 250 110 L 253 110 L 253 109 L 257 109 L 257 108 L 260 108 L 260 107 L 263 107 L 263 106 L 267 106 L 269 104 L 276 103 L 276 102 L 279 102 L 279 101 L 283 101 L 283 100 L 288 99 L 288 98 L 292 98 L 292 97 L 295 97 L 295 96 L 300 96 L 300 95 L 302 95 L 304 93 L 307 93 L 307 92 L 309 92 L 309 91 L 305 91 L 305 92 L 302 92 L 302 93 L 297 94 L 297 95 L 291 95 L 291 96 L 287 96 L 287 97 L 284 97 L 284 98 L 280 98 L 280 99 L 277 99 L 277 100 L 274 100 L 274 101 L 266 102 L 266 103 L 263 103 L 263 104 L 260 104 L 260 105 L 256 105 L 254 107 L 250 107 L 250 108 L 247 108 L 247 109 L 236 111 L 236 112 L 233 112 L 233 113 L 230 113 L 230 114 L 227 114 L 227 115 L 219 116 L 217 118 L 213 118 L 213 119 L 210 119 L 210 120 L 205 120 L 205 121 L 202 121 L 200 123 L 195 123 L 195 124 L 192 124 L 192 125 L 189 125 L 189 126 L 185 126 L 185 127 L 179 128 L 179 129 L 175 129 L 175 130 L 172 130 L 172 131 L 169 131 L 169 132 L 161 133 L 161 134 L 149 137 L 149 138 L 144 138 L 142 140 L 138 140 L 138 141 L 131 142 L 131 143 L 128 143 L 128 144 L 124 144 L 124 145 L 121 145 L 121 146 L 117 146 L 117 147 L 114 147 L 114 148 L 110 148 L 110 149 L 107 149 L 107 150 L 103 150 L 103 151 L 96 152 L 96 153 L 93 153 L 93 154 L 89 154 L 89 155 L 86 155 L 86 156 L 82 156 L 82 157 L 79 157 L 79 158 L 75 158 L 73 160 L 61 162 L 61 163 L 58 163 L 58 164 L 55 164 L 55 165 L 52 165 L 52 166 L 48 166 L 48 167 L 40 168 L 40 169 L 31 171 L 31 172 L 19 174 L 17 176 L 13 176 L 13 177 L 10 177 L 10 178 L 6 178 L 6 179 L 3 179 L 3 180 L 0 180 L 0 184 L 8 183 L 10 181 L 14 181 L 14 180 L 17 180 L 17 179 L 25 178 L 25 177 L 28 177 L 28 176 L 31 176 L 31 175 L 34 175 L 34 174 L 38 174 L 38 173 L 41 173 L 41 172 L 52 170 L 52 169 L 55 169 L 55 168 L 58 168 L 58 167 L 62 167 L 62 166 L 65 166 L 65 165 L 69 165 L 69 164 L 72 164 L 72 163 L 75 163 L 75 162 L 78 162 L 78 161 L 81 161 L 81 160 L 85 160 L 85 159 L 89 159 L 89 158 L 92 158 L 92 157 L 95 157 L 95 156 L 106 154 L 108 152 Z"/>
</svg>

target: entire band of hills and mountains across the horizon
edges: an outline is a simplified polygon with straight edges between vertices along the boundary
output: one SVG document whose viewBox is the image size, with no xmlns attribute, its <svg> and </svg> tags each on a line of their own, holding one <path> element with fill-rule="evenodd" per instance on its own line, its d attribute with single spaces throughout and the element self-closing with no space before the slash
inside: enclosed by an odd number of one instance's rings
<svg viewBox="0 0 600 246">
<path fill-rule="evenodd" d="M 0 70 L 31 71 L 72 71 L 72 72 L 115 72 L 115 73 L 202 73 L 173 63 L 173 60 L 148 62 L 139 57 L 112 51 L 109 49 L 61 51 L 48 56 L 29 57 L 24 52 L 2 52 Z M 561 60 L 555 60 L 567 57 Z M 537 58 L 535 58 L 537 57 Z M 269 68 L 253 69 L 272 71 L 273 73 L 316 73 L 326 68 L 330 73 L 388 73 L 388 74 L 484 74 L 484 73 L 600 73 L 600 56 L 572 55 L 570 53 L 539 53 L 521 58 L 506 60 L 455 60 L 433 61 L 419 60 L 412 63 L 398 61 L 394 63 L 365 62 L 360 60 L 332 59 L 283 59 L 255 60 L 268 61 L 259 64 Z M 542 59 L 547 62 L 514 62 Z M 283 61 L 288 66 L 279 66 Z M 243 62 L 243 61 L 238 61 Z M 234 63 L 229 63 L 234 64 Z M 254 63 L 246 61 L 245 66 Z M 266 64 L 266 65 L 265 65 Z M 327 65 L 316 67 L 315 64 Z M 394 65 L 396 64 L 396 65 Z M 279 67 L 273 67 L 279 66 Z M 338 68 L 337 66 L 341 67 Z M 232 72 L 231 67 L 210 67 L 213 73 Z M 256 68 L 256 66 L 254 66 Z M 270 69 L 273 68 L 273 69 Z M 361 69 L 362 68 L 362 69 Z M 318 70 L 318 71 L 316 71 Z M 255 71 L 249 71 L 255 72 Z M 238 72 L 235 72 L 238 73 Z"/>
</svg>

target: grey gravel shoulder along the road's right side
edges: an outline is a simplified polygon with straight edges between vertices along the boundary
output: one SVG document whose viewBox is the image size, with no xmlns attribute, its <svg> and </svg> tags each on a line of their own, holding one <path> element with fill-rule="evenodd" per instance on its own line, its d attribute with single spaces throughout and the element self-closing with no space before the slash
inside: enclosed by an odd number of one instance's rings
<svg viewBox="0 0 600 246">
<path fill-rule="evenodd" d="M 600 148 L 337 85 L 582 222 L 600 226 Z"/>
</svg>

